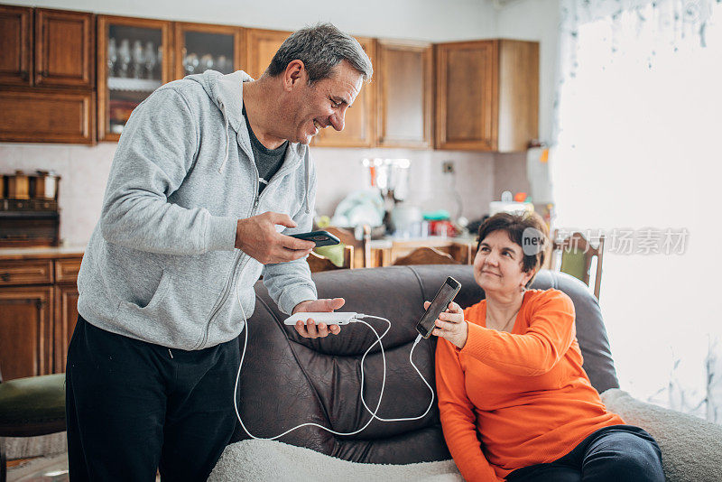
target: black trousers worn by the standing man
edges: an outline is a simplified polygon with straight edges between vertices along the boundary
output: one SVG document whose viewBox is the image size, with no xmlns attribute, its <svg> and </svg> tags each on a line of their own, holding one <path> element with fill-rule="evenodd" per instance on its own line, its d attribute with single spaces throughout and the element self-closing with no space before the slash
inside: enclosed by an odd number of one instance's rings
<svg viewBox="0 0 722 482">
<path fill-rule="evenodd" d="M 236 424 L 237 340 L 198 351 L 79 317 L 66 368 L 70 480 L 206 480 Z"/>
</svg>

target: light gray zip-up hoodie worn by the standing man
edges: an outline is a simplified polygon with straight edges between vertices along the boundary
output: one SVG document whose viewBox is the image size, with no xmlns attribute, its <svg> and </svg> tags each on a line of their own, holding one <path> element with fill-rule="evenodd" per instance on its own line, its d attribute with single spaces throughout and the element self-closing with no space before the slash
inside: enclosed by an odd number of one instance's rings
<svg viewBox="0 0 722 482">
<path fill-rule="evenodd" d="M 304 259 L 266 264 L 235 249 L 236 222 L 265 211 L 310 231 L 316 175 L 289 144 L 258 195 L 242 115 L 243 71 L 208 70 L 158 88 L 123 130 L 78 277 L 78 311 L 100 329 L 185 350 L 236 338 L 261 273 L 279 308 L 315 300 Z M 237 291 L 236 291 L 237 290 Z M 236 292 L 238 296 L 236 297 Z"/>
</svg>

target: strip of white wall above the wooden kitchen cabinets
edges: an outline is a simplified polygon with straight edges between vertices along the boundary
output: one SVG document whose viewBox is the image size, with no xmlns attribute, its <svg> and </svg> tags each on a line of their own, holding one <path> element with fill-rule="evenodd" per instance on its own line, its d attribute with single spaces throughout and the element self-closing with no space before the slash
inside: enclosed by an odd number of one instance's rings
<svg viewBox="0 0 722 482">
<path fill-rule="evenodd" d="M 16 0 L 12 3 L 290 31 L 309 23 L 332 22 L 339 29 L 356 35 L 432 42 L 490 37 L 495 29 L 495 9 L 486 0 Z"/>
</svg>

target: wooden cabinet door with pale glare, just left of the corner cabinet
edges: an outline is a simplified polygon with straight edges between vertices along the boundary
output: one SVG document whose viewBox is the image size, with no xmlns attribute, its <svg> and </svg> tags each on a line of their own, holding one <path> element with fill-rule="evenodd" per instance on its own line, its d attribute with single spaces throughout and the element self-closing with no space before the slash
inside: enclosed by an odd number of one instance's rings
<svg viewBox="0 0 722 482">
<path fill-rule="evenodd" d="M 375 84 L 378 145 L 429 148 L 433 91 L 430 43 L 380 40 Z"/>
</svg>

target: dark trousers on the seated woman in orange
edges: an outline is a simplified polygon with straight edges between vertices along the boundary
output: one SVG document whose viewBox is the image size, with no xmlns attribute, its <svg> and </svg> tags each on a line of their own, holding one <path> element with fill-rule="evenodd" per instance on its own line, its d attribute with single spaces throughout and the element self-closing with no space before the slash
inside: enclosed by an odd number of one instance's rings
<svg viewBox="0 0 722 482">
<path fill-rule="evenodd" d="M 514 482 L 664 482 L 662 452 L 652 435 L 634 425 L 595 431 L 548 464 L 517 468 Z"/>
</svg>

